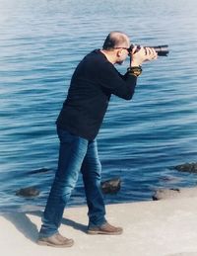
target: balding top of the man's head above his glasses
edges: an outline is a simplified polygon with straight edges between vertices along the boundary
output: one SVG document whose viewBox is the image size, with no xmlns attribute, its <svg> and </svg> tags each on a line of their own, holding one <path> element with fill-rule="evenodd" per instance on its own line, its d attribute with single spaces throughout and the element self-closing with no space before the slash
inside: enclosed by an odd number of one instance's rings
<svg viewBox="0 0 197 256">
<path fill-rule="evenodd" d="M 112 50 L 115 47 L 129 47 L 129 37 L 122 32 L 111 32 L 106 37 L 102 48 L 105 50 Z"/>
</svg>

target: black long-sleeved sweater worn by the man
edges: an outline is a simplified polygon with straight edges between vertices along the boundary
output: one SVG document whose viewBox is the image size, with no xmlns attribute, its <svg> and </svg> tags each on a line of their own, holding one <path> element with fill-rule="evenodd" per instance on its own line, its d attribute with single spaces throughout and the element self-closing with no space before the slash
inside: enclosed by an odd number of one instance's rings
<svg viewBox="0 0 197 256">
<path fill-rule="evenodd" d="M 121 75 L 105 55 L 96 49 L 86 55 L 77 66 L 57 127 L 94 139 L 101 126 L 110 95 L 130 100 L 136 86 L 136 76 Z"/>
</svg>

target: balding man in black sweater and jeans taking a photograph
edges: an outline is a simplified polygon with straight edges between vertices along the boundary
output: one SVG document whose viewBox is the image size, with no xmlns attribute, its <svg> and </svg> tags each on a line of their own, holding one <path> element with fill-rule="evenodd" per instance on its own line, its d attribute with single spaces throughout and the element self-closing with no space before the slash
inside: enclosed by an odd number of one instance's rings
<svg viewBox="0 0 197 256">
<path fill-rule="evenodd" d="M 153 48 L 142 47 L 137 51 L 134 47 L 131 52 L 129 47 L 127 35 L 111 32 L 102 49 L 86 55 L 72 76 L 67 99 L 56 122 L 60 139 L 58 168 L 42 216 L 38 244 L 54 247 L 73 245 L 73 239 L 62 236 L 58 228 L 80 171 L 89 208 L 88 233 L 122 233 L 121 227 L 109 224 L 104 216 L 96 137 L 111 94 L 130 100 L 137 77 L 142 72 L 140 65 L 157 58 Z M 129 53 L 132 54 L 130 67 L 125 75 L 121 75 L 114 64 L 121 64 Z"/>
</svg>

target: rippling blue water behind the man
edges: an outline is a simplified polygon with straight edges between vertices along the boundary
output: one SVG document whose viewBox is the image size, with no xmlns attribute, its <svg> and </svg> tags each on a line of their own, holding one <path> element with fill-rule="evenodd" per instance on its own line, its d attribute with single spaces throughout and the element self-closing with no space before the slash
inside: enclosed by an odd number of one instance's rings
<svg viewBox="0 0 197 256">
<path fill-rule="evenodd" d="M 132 43 L 168 43 L 143 65 L 132 101 L 112 97 L 100 129 L 102 180 L 121 177 L 106 203 L 150 200 L 196 186 L 173 166 L 197 160 L 195 0 L 0 0 L 0 211 L 43 209 L 58 156 L 55 120 L 80 59 L 112 30 Z M 128 62 L 117 67 L 125 71 Z M 48 171 L 44 172 L 43 168 Z M 15 196 L 35 186 L 39 197 Z M 70 206 L 85 204 L 80 177 Z"/>
</svg>

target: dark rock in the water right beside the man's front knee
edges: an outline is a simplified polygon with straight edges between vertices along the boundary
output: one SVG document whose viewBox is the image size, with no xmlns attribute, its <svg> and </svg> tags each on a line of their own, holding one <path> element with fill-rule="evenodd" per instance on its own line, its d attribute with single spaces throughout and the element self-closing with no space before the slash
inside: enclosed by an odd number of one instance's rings
<svg viewBox="0 0 197 256">
<path fill-rule="evenodd" d="M 101 182 L 101 190 L 103 194 L 116 194 L 120 190 L 121 181 L 120 178 L 113 178 L 104 182 Z"/>
</svg>

